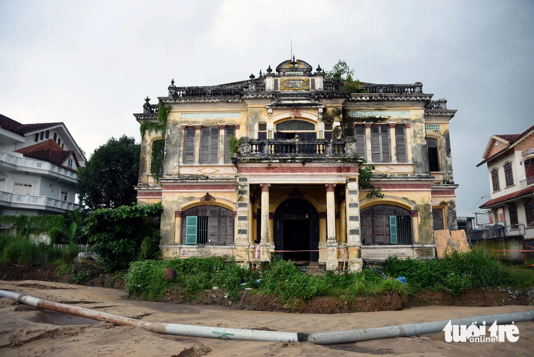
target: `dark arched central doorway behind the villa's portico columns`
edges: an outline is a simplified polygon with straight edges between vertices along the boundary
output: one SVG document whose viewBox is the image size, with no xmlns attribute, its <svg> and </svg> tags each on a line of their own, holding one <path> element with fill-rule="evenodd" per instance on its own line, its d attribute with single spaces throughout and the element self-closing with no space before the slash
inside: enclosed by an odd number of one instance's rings
<svg viewBox="0 0 534 357">
<path fill-rule="evenodd" d="M 274 249 L 282 251 L 286 260 L 319 260 L 319 215 L 307 200 L 290 198 L 278 206 L 274 212 Z"/>
</svg>

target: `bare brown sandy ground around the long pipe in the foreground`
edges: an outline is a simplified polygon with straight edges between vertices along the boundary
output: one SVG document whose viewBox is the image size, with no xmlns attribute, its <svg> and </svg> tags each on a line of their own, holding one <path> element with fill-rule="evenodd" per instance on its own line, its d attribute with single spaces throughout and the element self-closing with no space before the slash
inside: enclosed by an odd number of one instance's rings
<svg viewBox="0 0 534 357">
<path fill-rule="evenodd" d="M 0 289 L 146 321 L 290 332 L 323 332 L 528 311 L 532 306 L 414 307 L 354 314 L 286 314 L 129 300 L 120 290 L 62 283 L 0 281 Z M 161 335 L 0 299 L 0 356 L 532 356 L 534 322 L 517 323 L 515 343 L 446 343 L 444 332 L 354 344 L 261 343 Z"/>
</svg>

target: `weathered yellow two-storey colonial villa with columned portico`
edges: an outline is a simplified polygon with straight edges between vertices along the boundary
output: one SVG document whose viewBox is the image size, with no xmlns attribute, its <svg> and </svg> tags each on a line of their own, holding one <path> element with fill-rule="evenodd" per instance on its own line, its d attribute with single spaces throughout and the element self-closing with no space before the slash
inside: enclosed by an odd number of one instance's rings
<svg viewBox="0 0 534 357">
<path fill-rule="evenodd" d="M 160 125 L 147 97 L 134 114 L 146 128 L 138 201 L 163 203 L 163 256 L 226 254 L 246 265 L 258 262 L 257 240 L 259 261 L 274 252 L 327 270 L 392 254 L 434 257 L 434 230 L 457 226 L 456 110 L 420 82 L 342 85 L 293 58 L 240 82 L 172 80 L 158 97 L 170 106 Z M 363 160 L 383 198 L 359 186 Z"/>
</svg>

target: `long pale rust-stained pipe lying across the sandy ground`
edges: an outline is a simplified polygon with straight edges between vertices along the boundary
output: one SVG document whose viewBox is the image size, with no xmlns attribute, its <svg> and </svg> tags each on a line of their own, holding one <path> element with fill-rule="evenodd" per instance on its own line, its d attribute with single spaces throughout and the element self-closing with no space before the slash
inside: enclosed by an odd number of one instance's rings
<svg viewBox="0 0 534 357">
<path fill-rule="evenodd" d="M 464 317 L 462 319 L 420 322 L 413 324 L 375 327 L 360 330 L 319 333 L 278 332 L 182 325 L 166 322 L 140 321 L 132 319 L 131 317 L 124 317 L 84 307 L 66 305 L 61 304 L 59 302 L 37 299 L 33 296 L 23 295 L 17 292 L 7 290 L 0 290 L 0 298 L 10 298 L 28 306 L 44 308 L 81 317 L 87 317 L 88 319 L 105 321 L 119 326 L 141 327 L 148 331 L 167 333 L 168 335 L 220 338 L 230 340 L 248 340 L 259 342 L 311 342 L 317 345 L 355 343 L 381 338 L 409 337 L 414 335 L 423 335 L 425 333 L 440 332 L 443 331 L 443 328 L 445 328 L 445 325 L 449 323 L 449 321 L 451 321 L 451 324 L 453 325 L 469 325 L 475 321 L 478 324 L 482 324 L 482 321 L 485 321 L 486 325 L 491 325 L 494 321 L 497 321 L 499 324 L 506 324 L 511 322 L 534 320 L 534 311 L 525 311 L 519 313 Z"/>
</svg>

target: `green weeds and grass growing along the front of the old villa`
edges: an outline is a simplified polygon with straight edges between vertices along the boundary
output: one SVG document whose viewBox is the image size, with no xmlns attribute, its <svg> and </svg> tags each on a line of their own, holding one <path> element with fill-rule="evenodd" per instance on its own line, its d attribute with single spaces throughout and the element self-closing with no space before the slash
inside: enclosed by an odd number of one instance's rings
<svg viewBox="0 0 534 357">
<path fill-rule="evenodd" d="M 174 269 L 176 278 L 164 277 L 163 268 Z M 383 264 L 389 277 L 375 269 L 343 274 L 328 271 L 326 276 L 305 275 L 292 262 L 278 259 L 254 271 L 224 257 L 175 258 L 132 262 L 126 276 L 126 289 L 130 296 L 146 300 L 159 300 L 173 289 L 193 299 L 197 292 L 217 286 L 234 300 L 239 291 L 255 288 L 262 294 L 277 295 L 284 302 L 336 297 L 350 303 L 364 294 L 397 293 L 405 300 L 419 289 L 459 294 L 474 287 L 534 286 L 534 275 L 527 269 L 505 267 L 480 250 L 468 253 L 449 250 L 443 259 L 389 258 Z M 399 276 L 406 277 L 408 283 L 397 281 Z M 261 280 L 259 285 L 258 279 Z"/>
</svg>

